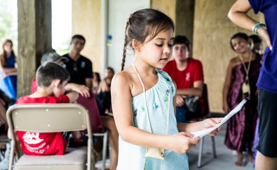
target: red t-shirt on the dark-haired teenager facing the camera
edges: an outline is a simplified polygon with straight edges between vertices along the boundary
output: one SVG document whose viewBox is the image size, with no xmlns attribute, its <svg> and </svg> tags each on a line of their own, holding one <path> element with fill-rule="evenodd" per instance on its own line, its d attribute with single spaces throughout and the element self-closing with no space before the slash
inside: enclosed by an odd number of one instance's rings
<svg viewBox="0 0 277 170">
<path fill-rule="evenodd" d="M 199 60 L 189 58 L 187 67 L 180 71 L 177 68 L 176 61 L 168 61 L 161 69 L 167 72 L 168 75 L 176 82 L 177 88 L 193 88 L 193 83 L 199 80 L 204 81 L 203 67 Z M 199 98 L 201 112 L 205 110 L 205 103 L 202 97 Z"/>
</svg>

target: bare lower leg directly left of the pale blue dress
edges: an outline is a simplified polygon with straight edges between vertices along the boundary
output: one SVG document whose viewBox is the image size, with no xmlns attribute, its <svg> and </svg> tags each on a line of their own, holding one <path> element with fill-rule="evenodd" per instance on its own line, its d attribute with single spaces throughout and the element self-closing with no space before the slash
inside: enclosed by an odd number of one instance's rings
<svg viewBox="0 0 277 170">
<path fill-rule="evenodd" d="M 113 117 L 101 116 L 103 126 L 110 130 L 110 143 L 111 143 L 111 162 L 110 170 L 115 170 L 118 161 L 118 131 L 116 129 L 116 123 Z"/>
</svg>

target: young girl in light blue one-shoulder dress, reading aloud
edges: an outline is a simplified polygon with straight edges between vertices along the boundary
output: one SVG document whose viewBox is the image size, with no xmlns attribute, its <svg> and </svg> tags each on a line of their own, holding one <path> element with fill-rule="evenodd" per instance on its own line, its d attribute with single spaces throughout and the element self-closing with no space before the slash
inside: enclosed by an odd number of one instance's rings
<svg viewBox="0 0 277 170">
<path fill-rule="evenodd" d="M 176 84 L 166 72 L 156 70 L 171 58 L 173 32 L 172 19 L 155 9 L 136 11 L 127 21 L 122 72 L 111 83 L 119 132 L 117 169 L 189 169 L 185 153 L 200 141 L 189 132 L 214 127 L 222 120 L 176 122 Z M 128 47 L 135 59 L 124 69 Z M 217 135 L 220 128 L 209 135 Z"/>
</svg>

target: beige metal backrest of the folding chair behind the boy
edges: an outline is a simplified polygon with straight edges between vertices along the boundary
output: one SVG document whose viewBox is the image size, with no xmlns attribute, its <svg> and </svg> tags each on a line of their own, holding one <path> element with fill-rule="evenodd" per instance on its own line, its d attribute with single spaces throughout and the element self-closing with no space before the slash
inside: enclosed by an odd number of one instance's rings
<svg viewBox="0 0 277 170">
<path fill-rule="evenodd" d="M 80 104 L 15 104 L 7 110 L 7 119 L 11 130 L 91 132 L 89 114 Z"/>
</svg>

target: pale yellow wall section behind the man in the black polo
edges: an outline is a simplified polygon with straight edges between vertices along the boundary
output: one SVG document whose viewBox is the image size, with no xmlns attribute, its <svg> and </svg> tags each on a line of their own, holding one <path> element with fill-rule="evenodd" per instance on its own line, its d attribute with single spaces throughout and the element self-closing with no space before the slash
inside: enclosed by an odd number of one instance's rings
<svg viewBox="0 0 277 170">
<path fill-rule="evenodd" d="M 72 35 L 86 39 L 81 51 L 93 62 L 93 72 L 100 72 L 101 63 L 101 0 L 72 0 Z"/>
</svg>

